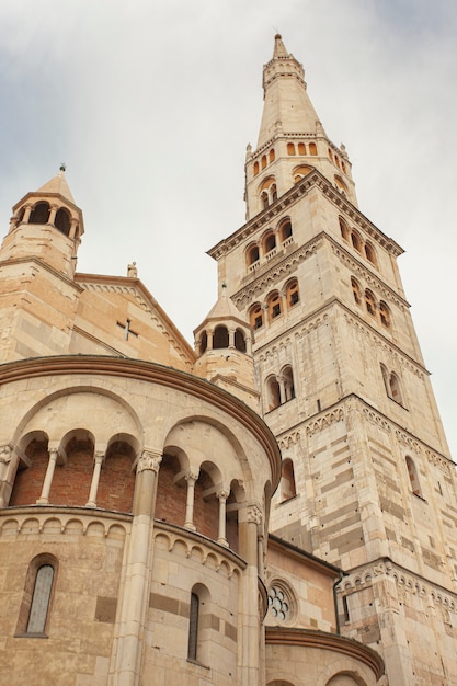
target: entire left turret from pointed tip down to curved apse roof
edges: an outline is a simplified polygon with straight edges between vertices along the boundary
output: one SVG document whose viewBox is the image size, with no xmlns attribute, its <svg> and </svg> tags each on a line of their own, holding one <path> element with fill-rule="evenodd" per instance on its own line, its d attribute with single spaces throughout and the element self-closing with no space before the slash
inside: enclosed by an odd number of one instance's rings
<svg viewBox="0 0 457 686">
<path fill-rule="evenodd" d="M 81 291 L 73 276 L 83 232 L 65 165 L 14 205 L 0 248 L 0 362 L 68 351 Z"/>
</svg>

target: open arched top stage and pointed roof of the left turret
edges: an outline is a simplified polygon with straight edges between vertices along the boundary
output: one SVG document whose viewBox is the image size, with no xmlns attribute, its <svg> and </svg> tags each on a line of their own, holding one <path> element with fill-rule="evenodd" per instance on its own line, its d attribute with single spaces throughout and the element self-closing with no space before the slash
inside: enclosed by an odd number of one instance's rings
<svg viewBox="0 0 457 686">
<path fill-rule="evenodd" d="M 83 232 L 82 213 L 75 204 L 62 164 L 56 176 L 14 205 L 0 259 L 35 256 L 72 278 Z"/>
</svg>

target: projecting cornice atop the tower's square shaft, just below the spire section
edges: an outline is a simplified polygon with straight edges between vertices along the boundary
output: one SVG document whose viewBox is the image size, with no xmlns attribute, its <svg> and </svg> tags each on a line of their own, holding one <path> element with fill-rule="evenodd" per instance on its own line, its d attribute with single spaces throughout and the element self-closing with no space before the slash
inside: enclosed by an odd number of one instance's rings
<svg viewBox="0 0 457 686">
<path fill-rule="evenodd" d="M 312 170 L 304 176 L 289 191 L 284 193 L 273 205 L 262 210 L 240 229 L 231 233 L 228 238 L 219 241 L 214 248 L 207 251 L 207 254 L 219 260 L 221 256 L 237 248 L 241 242 L 245 241 L 258 229 L 265 226 L 279 217 L 292 205 L 295 205 L 304 195 L 307 195 L 311 188 L 319 188 L 322 194 L 335 205 L 340 211 L 343 211 L 351 221 L 358 226 L 365 233 L 382 245 L 390 254 L 396 258 L 401 255 L 403 249 L 400 248 L 391 238 L 388 238 L 374 224 L 372 224 L 365 215 L 363 215 L 347 198 L 344 197 L 323 174 L 318 170 Z"/>
</svg>

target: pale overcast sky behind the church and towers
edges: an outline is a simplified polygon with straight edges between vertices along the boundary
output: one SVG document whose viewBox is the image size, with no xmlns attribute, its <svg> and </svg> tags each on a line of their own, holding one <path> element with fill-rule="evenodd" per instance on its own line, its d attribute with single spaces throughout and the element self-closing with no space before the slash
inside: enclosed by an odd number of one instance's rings
<svg viewBox="0 0 457 686">
<path fill-rule="evenodd" d="M 0 229 L 67 163 L 78 270 L 139 276 L 192 342 L 217 296 L 205 252 L 244 222 L 262 65 L 305 66 L 361 210 L 400 268 L 457 457 L 456 0 L 1 0 Z"/>
</svg>

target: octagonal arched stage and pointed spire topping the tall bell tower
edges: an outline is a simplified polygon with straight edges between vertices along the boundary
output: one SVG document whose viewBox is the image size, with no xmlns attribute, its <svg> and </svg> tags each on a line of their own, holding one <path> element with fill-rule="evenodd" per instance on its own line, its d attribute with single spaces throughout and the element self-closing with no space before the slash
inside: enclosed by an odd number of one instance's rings
<svg viewBox="0 0 457 686">
<path fill-rule="evenodd" d="M 247 217 L 276 202 L 315 169 L 356 205 L 347 153 L 327 137 L 307 92 L 304 67 L 287 52 L 281 34 L 263 67 L 262 83 L 256 150 L 248 148 L 247 155 Z"/>
</svg>

